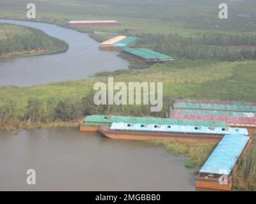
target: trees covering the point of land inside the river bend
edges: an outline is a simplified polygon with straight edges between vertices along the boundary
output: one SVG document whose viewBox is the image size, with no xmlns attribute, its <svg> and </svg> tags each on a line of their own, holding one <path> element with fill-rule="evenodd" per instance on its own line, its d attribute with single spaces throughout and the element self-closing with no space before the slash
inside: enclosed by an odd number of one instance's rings
<svg viewBox="0 0 256 204">
<path fill-rule="evenodd" d="M 0 40 L 0 55 L 12 52 L 47 50 L 49 52 L 65 51 L 68 48 L 67 43 L 56 38 L 48 36 L 43 31 L 28 28 L 28 34 L 7 35 Z"/>
</svg>

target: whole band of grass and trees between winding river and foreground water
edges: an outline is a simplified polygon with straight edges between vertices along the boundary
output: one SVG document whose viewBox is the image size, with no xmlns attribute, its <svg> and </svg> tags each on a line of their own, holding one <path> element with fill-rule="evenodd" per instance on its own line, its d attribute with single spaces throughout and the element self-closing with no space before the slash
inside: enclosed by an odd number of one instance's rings
<svg viewBox="0 0 256 204">
<path fill-rule="evenodd" d="M 5 87 L 0 89 L 1 124 L 3 127 L 4 124 L 12 123 L 15 120 L 66 121 L 80 119 L 83 114 L 93 113 L 164 117 L 174 98 L 255 101 L 255 66 L 256 62 L 181 60 L 155 64 L 147 71 L 124 73 L 121 71 L 115 75 L 114 82 L 163 82 L 164 107 L 163 111 L 159 113 L 151 113 L 149 105 L 94 105 L 93 85 L 99 81 L 107 83 L 107 77 L 92 77 L 35 87 Z M 72 98 L 71 102 L 68 98 Z M 29 100 L 33 100 L 33 103 Z M 70 109 L 56 111 L 60 101 L 66 101 Z M 36 110 L 31 112 L 30 106 Z M 60 104 L 59 107 L 65 108 Z M 70 110 L 79 114 L 70 115 L 68 113 Z M 56 112 L 68 115 L 67 119 L 63 116 L 56 116 Z M 34 116 L 31 118 L 31 115 Z"/>
</svg>

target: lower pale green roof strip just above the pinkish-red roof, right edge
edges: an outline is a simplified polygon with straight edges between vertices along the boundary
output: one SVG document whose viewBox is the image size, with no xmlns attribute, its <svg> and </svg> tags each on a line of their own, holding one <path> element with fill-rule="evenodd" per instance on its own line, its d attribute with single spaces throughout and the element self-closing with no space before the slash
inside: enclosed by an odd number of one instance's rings
<svg viewBox="0 0 256 204">
<path fill-rule="evenodd" d="M 205 115 L 205 116 L 227 116 L 227 117 L 256 117 L 256 112 L 232 112 L 220 110 L 191 110 L 175 109 L 173 115 Z"/>
</svg>

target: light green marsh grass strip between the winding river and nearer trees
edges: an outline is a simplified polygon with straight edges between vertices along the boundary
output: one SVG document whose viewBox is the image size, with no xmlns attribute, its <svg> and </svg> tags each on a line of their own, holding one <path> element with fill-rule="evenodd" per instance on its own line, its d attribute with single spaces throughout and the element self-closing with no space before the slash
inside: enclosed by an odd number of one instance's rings
<svg viewBox="0 0 256 204">
<path fill-rule="evenodd" d="M 111 75 L 115 75 L 115 83 L 163 82 L 164 97 L 255 101 L 255 66 L 256 62 L 179 61 L 175 64 L 156 64 L 147 71 L 116 71 Z M 22 117 L 28 99 L 37 98 L 44 105 L 42 110 L 50 113 L 51 110 L 46 108 L 47 101 L 54 101 L 52 103 L 55 104 L 67 97 L 83 98 L 90 94 L 95 82 L 108 84 L 108 74 L 34 87 L 1 87 L 0 106 L 12 101 L 15 117 Z"/>
</svg>

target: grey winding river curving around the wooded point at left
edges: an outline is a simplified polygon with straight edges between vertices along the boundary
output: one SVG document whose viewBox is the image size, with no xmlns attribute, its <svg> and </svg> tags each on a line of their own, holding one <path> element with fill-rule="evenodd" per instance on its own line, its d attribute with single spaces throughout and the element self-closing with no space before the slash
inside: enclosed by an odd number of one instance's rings
<svg viewBox="0 0 256 204">
<path fill-rule="evenodd" d="M 129 62 L 118 52 L 103 52 L 99 43 L 88 34 L 52 24 L 20 20 L 0 20 L 0 23 L 26 25 L 68 43 L 65 53 L 0 60 L 0 86 L 31 85 L 64 82 L 92 76 L 100 71 L 127 69 Z"/>
</svg>

